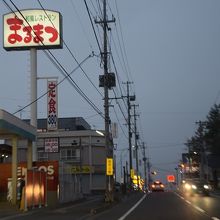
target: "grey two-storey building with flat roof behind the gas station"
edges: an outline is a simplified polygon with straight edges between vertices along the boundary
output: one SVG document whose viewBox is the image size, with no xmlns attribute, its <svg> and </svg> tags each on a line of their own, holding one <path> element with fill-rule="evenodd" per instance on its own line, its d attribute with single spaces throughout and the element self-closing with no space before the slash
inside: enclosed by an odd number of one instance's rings
<svg viewBox="0 0 220 220">
<path fill-rule="evenodd" d="M 54 172 L 58 172 L 56 192 L 48 192 L 48 203 L 68 202 L 83 194 L 104 192 L 104 136 L 91 130 L 90 125 L 81 117 L 59 118 L 58 125 L 57 131 L 47 131 L 47 119 L 37 120 L 36 164 L 41 162 L 41 168 L 46 167 L 48 175 L 51 175 L 48 182 L 54 179 Z M 5 144 L 11 143 L 6 140 Z M 26 140 L 18 142 L 18 163 L 26 161 L 27 144 Z M 57 171 L 53 161 L 58 161 Z M 5 158 L 4 163 L 6 162 L 11 162 L 10 156 Z M 56 181 L 51 184 L 55 183 Z M 54 186 L 51 188 L 54 189 Z"/>
</svg>

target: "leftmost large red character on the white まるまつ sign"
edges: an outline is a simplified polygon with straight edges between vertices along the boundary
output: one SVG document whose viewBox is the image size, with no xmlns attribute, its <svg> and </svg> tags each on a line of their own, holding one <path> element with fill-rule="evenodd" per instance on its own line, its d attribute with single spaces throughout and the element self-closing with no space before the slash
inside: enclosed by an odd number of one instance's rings
<svg viewBox="0 0 220 220">
<path fill-rule="evenodd" d="M 10 25 L 10 30 L 14 31 L 13 34 L 8 36 L 8 42 L 11 44 L 15 44 L 16 42 L 21 42 L 22 37 L 17 33 L 18 30 L 21 29 L 21 25 L 23 24 L 23 20 L 14 17 L 7 19 L 7 24 Z"/>
</svg>

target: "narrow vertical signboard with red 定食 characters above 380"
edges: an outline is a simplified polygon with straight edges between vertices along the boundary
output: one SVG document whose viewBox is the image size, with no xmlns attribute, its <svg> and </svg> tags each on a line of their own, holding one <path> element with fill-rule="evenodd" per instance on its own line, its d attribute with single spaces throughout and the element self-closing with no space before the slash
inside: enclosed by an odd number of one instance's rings
<svg viewBox="0 0 220 220">
<path fill-rule="evenodd" d="M 57 80 L 47 81 L 47 130 L 58 129 Z"/>
</svg>

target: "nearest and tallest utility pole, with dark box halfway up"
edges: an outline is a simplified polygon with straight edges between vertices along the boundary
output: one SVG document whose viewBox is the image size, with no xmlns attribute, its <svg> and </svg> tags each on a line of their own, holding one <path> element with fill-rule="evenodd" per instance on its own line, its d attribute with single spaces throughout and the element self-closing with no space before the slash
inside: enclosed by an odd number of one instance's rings
<svg viewBox="0 0 220 220">
<path fill-rule="evenodd" d="M 108 90 L 115 86 L 115 76 L 113 73 L 108 72 L 108 23 L 115 22 L 115 19 L 107 19 L 107 5 L 106 0 L 103 0 L 103 19 L 100 21 L 95 21 L 101 24 L 103 27 L 103 52 L 102 60 L 104 65 L 104 75 L 100 76 L 100 87 L 104 87 L 104 111 L 105 111 L 105 147 L 106 147 L 106 159 L 113 159 L 113 149 L 110 147 L 110 117 L 109 117 L 109 93 Z M 107 164 L 106 164 L 107 166 Z M 113 202 L 113 176 L 106 175 L 106 190 L 105 190 L 105 201 Z"/>
</svg>

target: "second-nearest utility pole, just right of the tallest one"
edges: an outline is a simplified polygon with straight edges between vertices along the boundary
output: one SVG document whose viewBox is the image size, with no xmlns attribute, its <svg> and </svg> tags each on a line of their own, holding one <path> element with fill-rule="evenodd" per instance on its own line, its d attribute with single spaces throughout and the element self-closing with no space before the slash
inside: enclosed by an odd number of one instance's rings
<svg viewBox="0 0 220 220">
<path fill-rule="evenodd" d="M 124 83 L 125 84 L 125 83 Z M 129 144 L 129 169 L 130 169 L 130 189 L 132 187 L 132 176 L 131 176 L 131 170 L 133 169 L 132 166 L 132 146 L 131 146 L 131 138 L 132 138 L 132 132 L 131 132 L 131 103 L 130 101 L 135 101 L 135 96 L 130 96 L 129 94 L 129 84 L 132 84 L 132 82 L 127 81 L 127 106 L 128 106 L 128 144 Z"/>
</svg>

